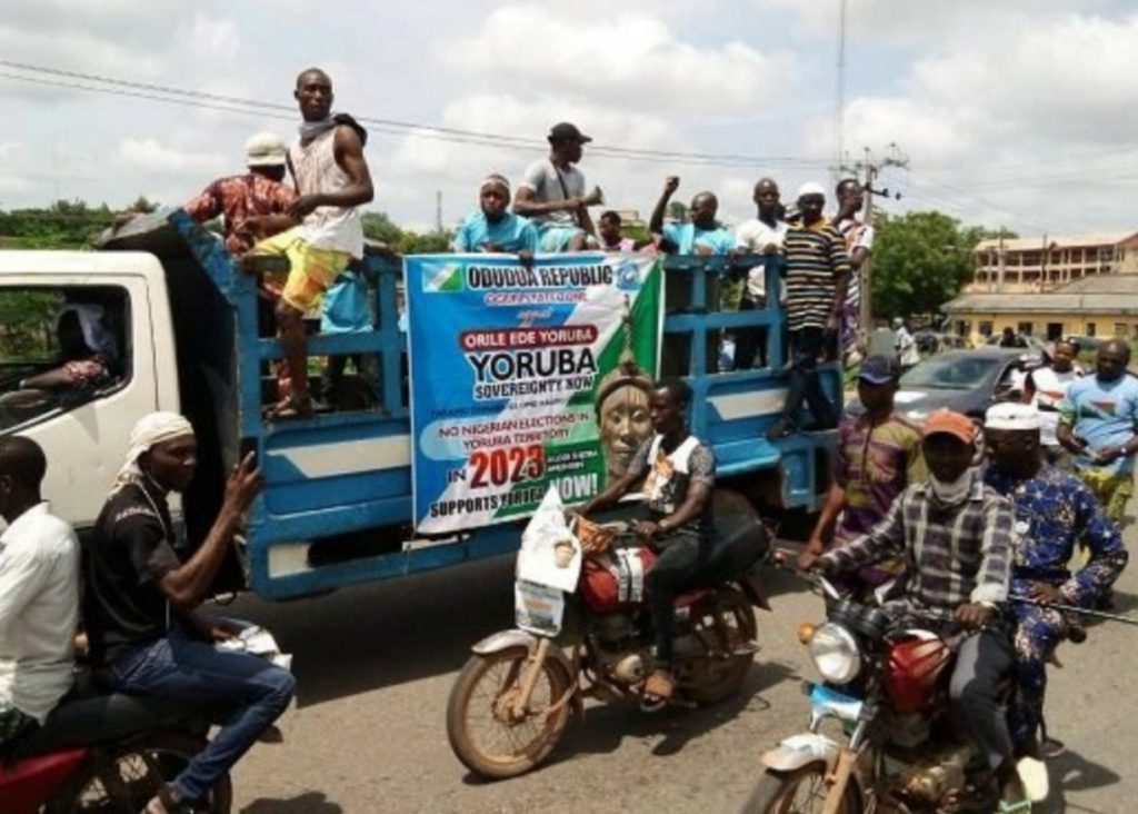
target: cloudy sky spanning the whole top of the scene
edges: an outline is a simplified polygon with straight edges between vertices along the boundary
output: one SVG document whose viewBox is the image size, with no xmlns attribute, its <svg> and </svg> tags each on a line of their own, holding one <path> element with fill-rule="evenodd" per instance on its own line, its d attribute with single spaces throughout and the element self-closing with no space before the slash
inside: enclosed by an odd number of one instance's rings
<svg viewBox="0 0 1138 814">
<path fill-rule="evenodd" d="M 599 148 L 589 183 L 645 217 L 670 173 L 683 199 L 718 192 L 727 221 L 749 216 L 761 175 L 784 197 L 830 187 L 841 121 L 849 161 L 907 158 L 879 182 L 902 196 L 880 202 L 890 212 L 1023 235 L 1138 229 L 1138 13 L 1118 0 L 848 0 L 841 116 L 840 0 L 10 6 L 5 209 L 181 202 L 238 171 L 251 133 L 291 138 L 294 77 L 318 65 L 336 107 L 372 120 L 376 207 L 415 228 L 437 190 L 459 220 L 488 172 L 520 176 L 569 120 Z M 145 98 L 164 88 L 198 96 Z"/>
</svg>

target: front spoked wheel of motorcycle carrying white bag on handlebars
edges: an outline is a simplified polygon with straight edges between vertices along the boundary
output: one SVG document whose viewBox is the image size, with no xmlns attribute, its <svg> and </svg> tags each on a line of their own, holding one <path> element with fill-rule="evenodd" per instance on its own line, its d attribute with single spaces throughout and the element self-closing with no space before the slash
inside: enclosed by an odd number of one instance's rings
<svg viewBox="0 0 1138 814">
<path fill-rule="evenodd" d="M 484 778 L 513 778 L 537 766 L 561 740 L 569 720 L 568 704 L 550 712 L 571 681 L 553 658 L 542 665 L 525 710 L 519 715 L 513 709 L 528 655 L 526 648 L 516 647 L 472 656 L 451 690 L 446 707 L 451 749 Z"/>
</svg>

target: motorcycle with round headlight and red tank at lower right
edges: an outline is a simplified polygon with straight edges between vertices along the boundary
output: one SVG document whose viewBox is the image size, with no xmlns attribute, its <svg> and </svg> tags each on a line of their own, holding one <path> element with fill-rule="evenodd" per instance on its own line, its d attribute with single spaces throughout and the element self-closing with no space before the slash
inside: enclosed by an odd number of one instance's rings
<svg viewBox="0 0 1138 814">
<path fill-rule="evenodd" d="M 995 778 L 974 766 L 974 748 L 948 721 L 950 665 L 967 634 L 898 624 L 825 577 L 813 579 L 830 601 L 824 624 L 799 628 L 823 679 L 806 684 L 810 726 L 762 755 L 744 814 L 995 811 Z M 826 721 L 839 723 L 844 742 L 820 732 Z M 1022 766 L 1021 778 L 1033 799 L 1046 798 L 1046 773 L 1028 776 Z"/>
</svg>

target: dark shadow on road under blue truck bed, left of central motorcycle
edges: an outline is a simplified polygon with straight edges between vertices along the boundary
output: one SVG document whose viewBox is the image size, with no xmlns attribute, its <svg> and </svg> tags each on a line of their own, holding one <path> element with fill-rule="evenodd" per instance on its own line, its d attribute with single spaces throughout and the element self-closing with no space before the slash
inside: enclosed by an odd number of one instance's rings
<svg viewBox="0 0 1138 814">
<path fill-rule="evenodd" d="M 241 597 L 223 612 L 294 653 L 297 702 L 310 707 L 461 667 L 479 639 L 513 625 L 513 557 L 291 602 Z"/>
</svg>

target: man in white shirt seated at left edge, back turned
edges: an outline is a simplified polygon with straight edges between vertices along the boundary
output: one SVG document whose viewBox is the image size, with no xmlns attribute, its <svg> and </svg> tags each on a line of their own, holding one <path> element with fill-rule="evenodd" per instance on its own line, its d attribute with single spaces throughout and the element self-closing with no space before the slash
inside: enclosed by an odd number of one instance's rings
<svg viewBox="0 0 1138 814">
<path fill-rule="evenodd" d="M 0 747 L 42 724 L 71 690 L 79 540 L 40 498 L 39 444 L 0 438 Z"/>
</svg>

